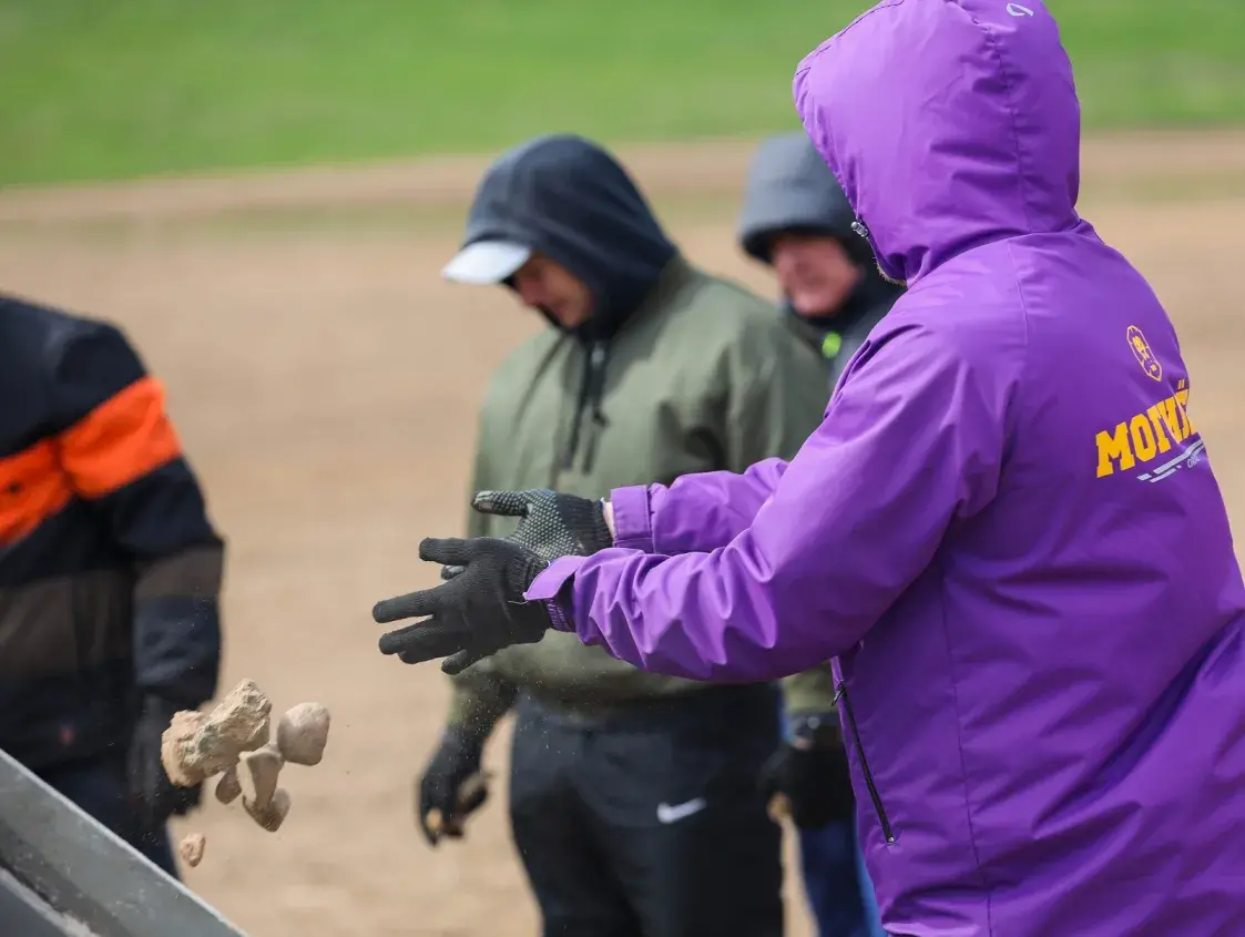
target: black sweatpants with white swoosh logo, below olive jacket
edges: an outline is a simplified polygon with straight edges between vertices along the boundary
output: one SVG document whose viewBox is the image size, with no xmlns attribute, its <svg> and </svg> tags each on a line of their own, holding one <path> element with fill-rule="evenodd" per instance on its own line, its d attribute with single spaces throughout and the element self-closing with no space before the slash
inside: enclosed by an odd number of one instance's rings
<svg viewBox="0 0 1245 937">
<path fill-rule="evenodd" d="M 758 773 L 771 687 L 715 687 L 608 720 L 520 699 L 514 841 L 544 937 L 781 937 L 781 829 Z"/>
</svg>

